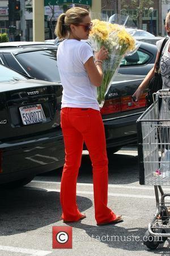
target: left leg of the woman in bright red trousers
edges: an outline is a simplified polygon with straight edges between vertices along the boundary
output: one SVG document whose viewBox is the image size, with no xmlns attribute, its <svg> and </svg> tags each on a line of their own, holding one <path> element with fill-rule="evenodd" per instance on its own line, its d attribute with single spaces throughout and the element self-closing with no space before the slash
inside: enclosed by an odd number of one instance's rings
<svg viewBox="0 0 170 256">
<path fill-rule="evenodd" d="M 76 204 L 76 181 L 82 159 L 83 137 L 69 122 L 69 109 L 62 109 L 61 111 L 61 126 L 66 155 L 61 179 L 60 200 L 63 220 L 77 221 L 82 216 Z"/>
</svg>

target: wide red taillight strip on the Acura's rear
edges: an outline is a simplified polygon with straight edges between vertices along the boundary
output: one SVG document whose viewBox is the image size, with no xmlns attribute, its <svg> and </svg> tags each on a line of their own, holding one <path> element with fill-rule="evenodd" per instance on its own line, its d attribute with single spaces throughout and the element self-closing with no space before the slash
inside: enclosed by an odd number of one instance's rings
<svg viewBox="0 0 170 256">
<path fill-rule="evenodd" d="M 103 108 L 100 110 L 100 113 L 102 115 L 106 115 L 124 112 L 131 109 L 145 108 L 145 97 L 146 93 L 142 93 L 141 97 L 137 102 L 132 101 L 131 96 L 105 100 Z"/>
</svg>

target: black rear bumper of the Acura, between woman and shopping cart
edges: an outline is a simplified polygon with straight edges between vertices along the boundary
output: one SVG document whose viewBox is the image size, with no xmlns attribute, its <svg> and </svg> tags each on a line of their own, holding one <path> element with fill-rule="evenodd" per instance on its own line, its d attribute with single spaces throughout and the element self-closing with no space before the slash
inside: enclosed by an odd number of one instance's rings
<svg viewBox="0 0 170 256">
<path fill-rule="evenodd" d="M 136 121 L 143 112 L 123 117 L 104 119 L 107 148 L 137 142 Z"/>
</svg>

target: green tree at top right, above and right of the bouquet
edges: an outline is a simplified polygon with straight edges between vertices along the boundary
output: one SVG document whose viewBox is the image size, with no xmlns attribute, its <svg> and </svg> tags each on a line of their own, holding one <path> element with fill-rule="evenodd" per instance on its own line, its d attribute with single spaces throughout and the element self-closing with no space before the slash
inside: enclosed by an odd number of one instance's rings
<svg viewBox="0 0 170 256">
<path fill-rule="evenodd" d="M 129 2 L 127 2 L 127 0 L 121 0 L 121 13 L 127 15 L 127 10 L 135 10 L 136 14 L 131 18 L 137 20 L 138 27 L 142 28 L 142 14 L 153 6 L 154 1 L 152 0 L 131 0 Z"/>
</svg>

